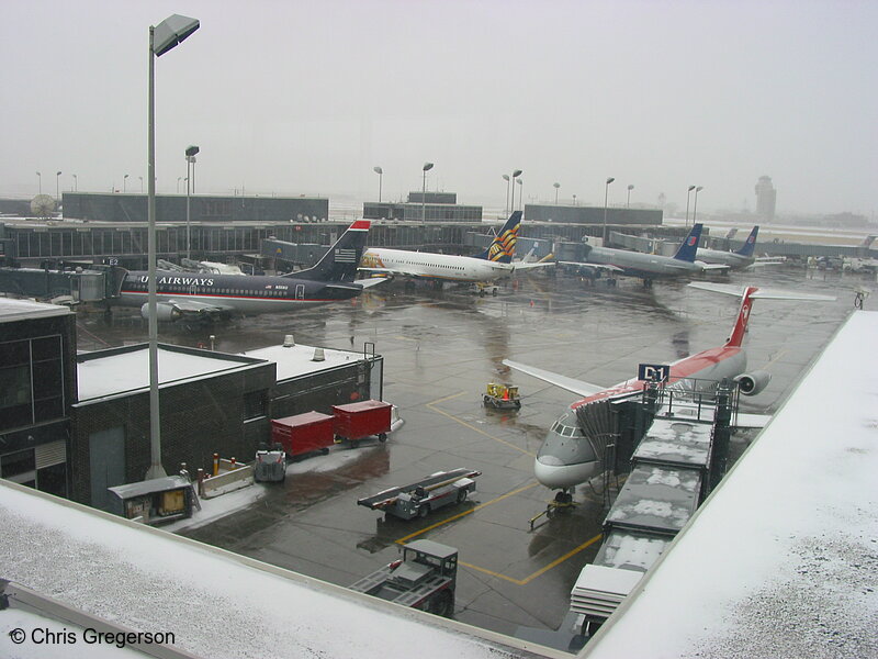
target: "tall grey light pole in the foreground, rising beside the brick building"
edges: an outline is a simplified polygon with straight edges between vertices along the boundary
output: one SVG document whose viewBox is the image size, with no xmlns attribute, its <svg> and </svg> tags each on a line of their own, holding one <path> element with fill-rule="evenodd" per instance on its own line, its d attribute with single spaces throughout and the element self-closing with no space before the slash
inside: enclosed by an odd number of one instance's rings
<svg viewBox="0 0 878 659">
<path fill-rule="evenodd" d="M 148 232 L 148 302 L 149 314 L 149 447 L 151 463 L 146 472 L 147 479 L 167 476 L 161 466 L 161 428 L 158 413 L 158 312 L 156 303 L 156 83 L 155 59 L 187 38 L 200 23 L 173 14 L 156 26 L 149 26 L 149 93 L 147 110 L 147 215 Z"/>
</svg>

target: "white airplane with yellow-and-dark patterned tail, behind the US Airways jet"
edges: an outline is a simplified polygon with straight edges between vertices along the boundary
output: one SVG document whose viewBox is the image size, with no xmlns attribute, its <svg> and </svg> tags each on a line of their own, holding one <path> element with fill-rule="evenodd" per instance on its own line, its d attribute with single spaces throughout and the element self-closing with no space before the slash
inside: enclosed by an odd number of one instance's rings
<svg viewBox="0 0 878 659">
<path fill-rule="evenodd" d="M 516 237 L 521 226 L 521 211 L 515 211 L 487 249 L 476 256 L 434 254 L 405 249 L 367 249 L 360 270 L 372 275 L 408 277 L 441 282 L 485 283 L 509 277 L 518 270 L 545 267 L 548 263 L 513 263 Z"/>
</svg>

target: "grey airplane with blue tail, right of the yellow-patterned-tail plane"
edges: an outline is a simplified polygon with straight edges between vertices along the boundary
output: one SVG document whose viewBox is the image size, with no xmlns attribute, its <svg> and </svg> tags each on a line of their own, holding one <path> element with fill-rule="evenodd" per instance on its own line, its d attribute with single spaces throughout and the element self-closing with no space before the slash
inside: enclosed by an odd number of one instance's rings
<svg viewBox="0 0 878 659">
<path fill-rule="evenodd" d="M 585 261 L 559 263 L 566 266 L 578 266 L 594 276 L 606 271 L 608 272 L 610 286 L 616 284 L 616 276 L 618 275 L 639 277 L 646 288 L 652 286 L 654 279 L 701 275 L 707 270 L 728 270 L 729 266 L 695 260 L 702 226 L 700 223 L 693 225 L 689 235 L 680 243 L 674 256 L 586 245 Z"/>
</svg>

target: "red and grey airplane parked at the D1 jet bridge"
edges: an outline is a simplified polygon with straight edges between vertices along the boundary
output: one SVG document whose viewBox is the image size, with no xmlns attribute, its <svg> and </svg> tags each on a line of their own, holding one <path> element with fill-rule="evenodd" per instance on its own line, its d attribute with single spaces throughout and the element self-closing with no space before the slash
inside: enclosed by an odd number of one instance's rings
<svg viewBox="0 0 878 659">
<path fill-rule="evenodd" d="M 766 371 L 746 372 L 746 354 L 742 348 L 742 342 L 747 331 L 747 321 L 750 320 L 753 300 L 834 300 L 834 298 L 826 295 L 786 293 L 756 287 L 746 287 L 742 294 L 740 287 L 702 282 L 690 283 L 689 286 L 713 292 L 741 294 L 741 308 L 727 342 L 720 347 L 678 359 L 671 365 L 666 387 L 672 390 L 693 393 L 709 394 L 716 390 L 717 382 L 728 378 L 738 383 L 742 394 L 756 395 L 770 381 L 770 373 Z M 596 418 L 600 412 L 600 405 L 596 405 L 596 403 L 640 392 L 644 389 L 646 382 L 638 378 L 631 378 L 615 387 L 604 389 L 597 384 L 583 382 L 509 359 L 504 359 L 503 364 L 584 396 L 572 403 L 552 424 L 533 462 L 533 474 L 537 480 L 548 488 L 560 490 L 555 496 L 558 502 L 570 503 L 573 500 L 571 492 L 577 484 L 589 481 L 609 467 L 603 463 L 599 438 L 588 436 L 583 432 L 583 416 L 588 420 Z M 589 405 L 595 406 L 589 407 Z M 589 411 L 592 414 L 587 416 Z M 761 417 L 755 418 L 755 415 L 752 421 L 754 423 L 746 425 L 756 427 L 764 425 L 764 420 Z M 585 427 L 589 425 L 592 424 L 585 424 Z M 741 422 L 740 425 L 744 425 L 744 423 Z"/>
</svg>

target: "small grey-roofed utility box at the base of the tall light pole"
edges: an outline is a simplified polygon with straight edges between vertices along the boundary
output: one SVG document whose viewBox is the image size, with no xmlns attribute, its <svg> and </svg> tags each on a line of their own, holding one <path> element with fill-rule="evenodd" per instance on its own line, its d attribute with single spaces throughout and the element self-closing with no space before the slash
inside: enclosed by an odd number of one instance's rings
<svg viewBox="0 0 878 659">
<path fill-rule="evenodd" d="M 161 524 L 192 516 L 195 491 L 188 478 L 168 476 L 108 488 L 110 512 L 145 524 Z"/>
</svg>

